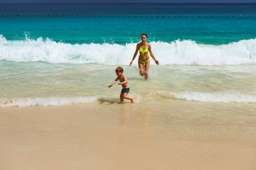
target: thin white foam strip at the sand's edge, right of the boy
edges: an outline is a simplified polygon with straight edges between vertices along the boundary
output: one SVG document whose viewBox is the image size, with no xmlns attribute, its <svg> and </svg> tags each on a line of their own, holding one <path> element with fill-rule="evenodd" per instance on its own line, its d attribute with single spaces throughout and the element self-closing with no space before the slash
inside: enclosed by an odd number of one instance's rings
<svg viewBox="0 0 256 170">
<path fill-rule="evenodd" d="M 227 94 L 227 93 L 203 93 L 197 91 L 186 91 L 183 93 L 172 93 L 176 99 L 186 101 L 202 101 L 209 103 L 256 103 L 256 95 L 249 94 Z"/>
</svg>

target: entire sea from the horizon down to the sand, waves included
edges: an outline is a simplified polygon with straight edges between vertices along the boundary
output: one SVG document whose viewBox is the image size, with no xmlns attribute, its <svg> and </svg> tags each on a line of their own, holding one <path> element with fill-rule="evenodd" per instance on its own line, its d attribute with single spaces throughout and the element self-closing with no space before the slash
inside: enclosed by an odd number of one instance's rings
<svg viewBox="0 0 256 170">
<path fill-rule="evenodd" d="M 255 4 L 55 7 L 0 5 L 1 107 L 116 100 L 117 66 L 137 103 L 256 103 Z M 149 81 L 128 67 L 141 33 L 160 62 Z"/>
</svg>

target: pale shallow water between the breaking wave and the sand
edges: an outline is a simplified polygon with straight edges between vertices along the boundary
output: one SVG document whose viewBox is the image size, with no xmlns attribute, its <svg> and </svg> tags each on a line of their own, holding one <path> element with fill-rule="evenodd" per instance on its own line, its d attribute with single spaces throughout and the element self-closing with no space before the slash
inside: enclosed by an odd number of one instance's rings
<svg viewBox="0 0 256 170">
<path fill-rule="evenodd" d="M 4 65 L 0 74 L 1 101 L 11 100 L 10 106 L 17 102 L 18 106 L 48 106 L 119 98 L 120 86 L 107 87 L 116 78 L 116 66 L 46 62 L 1 64 Z M 255 86 L 252 86 L 256 84 L 255 65 L 152 65 L 149 81 L 139 75 L 136 65 L 123 67 L 131 88 L 129 96 L 137 98 L 137 103 L 169 99 L 256 103 Z"/>
</svg>

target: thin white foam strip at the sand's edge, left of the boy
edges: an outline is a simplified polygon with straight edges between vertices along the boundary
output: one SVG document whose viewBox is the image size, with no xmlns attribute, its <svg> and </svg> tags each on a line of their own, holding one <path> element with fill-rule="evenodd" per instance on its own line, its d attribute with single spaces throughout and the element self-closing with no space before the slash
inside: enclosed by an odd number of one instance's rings
<svg viewBox="0 0 256 170">
<path fill-rule="evenodd" d="M 64 106 L 77 103 L 94 103 L 97 96 L 76 96 L 63 98 L 13 98 L 0 101 L 0 108 L 26 106 Z"/>
</svg>

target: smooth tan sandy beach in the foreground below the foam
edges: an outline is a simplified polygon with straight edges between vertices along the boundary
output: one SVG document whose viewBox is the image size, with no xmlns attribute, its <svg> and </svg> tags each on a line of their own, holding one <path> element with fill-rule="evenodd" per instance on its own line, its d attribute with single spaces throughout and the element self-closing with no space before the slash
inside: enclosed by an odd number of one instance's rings
<svg viewBox="0 0 256 170">
<path fill-rule="evenodd" d="M 255 111 L 245 103 L 107 100 L 0 108 L 0 169 L 253 170 Z"/>
</svg>

